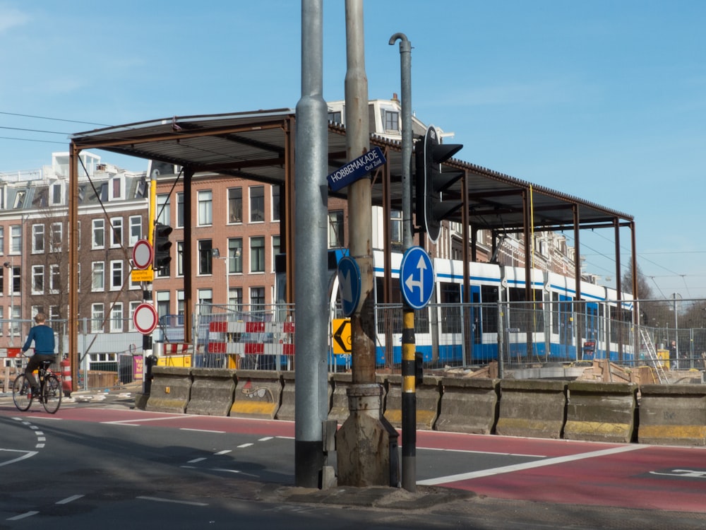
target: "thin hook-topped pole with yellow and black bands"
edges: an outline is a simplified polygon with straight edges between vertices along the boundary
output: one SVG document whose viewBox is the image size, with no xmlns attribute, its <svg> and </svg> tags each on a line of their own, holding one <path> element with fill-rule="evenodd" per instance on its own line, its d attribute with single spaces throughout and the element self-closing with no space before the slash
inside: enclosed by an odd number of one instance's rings
<svg viewBox="0 0 706 530">
<path fill-rule="evenodd" d="M 412 43 L 395 33 L 388 44 L 400 40 L 402 78 L 402 234 L 405 251 L 414 244 L 412 230 Z M 414 310 L 402 307 L 402 488 L 417 491 L 417 383 L 415 380 Z"/>
</svg>

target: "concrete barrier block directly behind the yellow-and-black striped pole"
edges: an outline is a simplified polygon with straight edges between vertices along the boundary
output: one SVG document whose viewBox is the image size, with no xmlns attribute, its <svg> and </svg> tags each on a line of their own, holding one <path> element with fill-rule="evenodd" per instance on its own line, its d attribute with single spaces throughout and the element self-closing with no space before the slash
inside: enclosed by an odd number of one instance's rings
<svg viewBox="0 0 706 530">
<path fill-rule="evenodd" d="M 385 396 L 385 419 L 396 428 L 402 427 L 402 376 L 388 375 L 388 393 Z M 432 430 L 438 416 L 441 400 L 441 377 L 424 376 L 424 382 L 415 389 L 417 398 L 417 428 Z"/>
</svg>

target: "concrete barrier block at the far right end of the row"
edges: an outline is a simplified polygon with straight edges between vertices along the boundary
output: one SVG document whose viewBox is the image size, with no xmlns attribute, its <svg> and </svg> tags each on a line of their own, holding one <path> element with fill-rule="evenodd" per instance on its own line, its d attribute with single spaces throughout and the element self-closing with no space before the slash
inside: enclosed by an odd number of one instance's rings
<svg viewBox="0 0 706 530">
<path fill-rule="evenodd" d="M 706 445 L 706 385 L 643 384 L 638 442 Z"/>
</svg>

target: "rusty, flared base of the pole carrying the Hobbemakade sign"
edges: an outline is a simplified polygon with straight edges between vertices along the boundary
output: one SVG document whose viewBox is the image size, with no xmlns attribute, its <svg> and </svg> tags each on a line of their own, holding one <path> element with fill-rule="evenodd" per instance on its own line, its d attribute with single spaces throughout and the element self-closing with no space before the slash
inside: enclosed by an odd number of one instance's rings
<svg viewBox="0 0 706 530">
<path fill-rule="evenodd" d="M 383 387 L 354 384 L 347 394 L 350 414 L 336 433 L 338 485 L 398 487 L 398 435 L 383 416 Z"/>
</svg>

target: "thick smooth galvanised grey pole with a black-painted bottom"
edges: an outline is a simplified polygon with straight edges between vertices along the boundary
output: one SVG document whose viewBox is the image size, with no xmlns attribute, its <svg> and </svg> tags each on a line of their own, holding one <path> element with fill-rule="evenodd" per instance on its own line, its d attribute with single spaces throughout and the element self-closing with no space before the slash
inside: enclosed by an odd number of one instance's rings
<svg viewBox="0 0 706 530">
<path fill-rule="evenodd" d="M 328 108 L 323 100 L 323 0 L 301 1 L 301 99 L 295 152 L 294 303 L 297 372 L 294 398 L 294 480 L 320 487 L 328 417 Z"/>
</svg>

